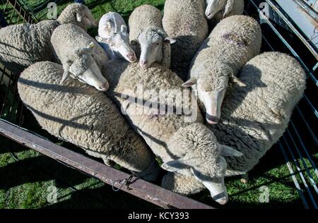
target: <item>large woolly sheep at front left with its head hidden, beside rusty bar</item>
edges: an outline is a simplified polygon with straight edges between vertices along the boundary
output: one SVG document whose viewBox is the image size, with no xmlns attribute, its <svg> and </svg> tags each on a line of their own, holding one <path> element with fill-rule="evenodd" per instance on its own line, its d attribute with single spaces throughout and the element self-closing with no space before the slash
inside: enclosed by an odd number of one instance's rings
<svg viewBox="0 0 318 223">
<path fill-rule="evenodd" d="M 40 126 L 105 164 L 112 160 L 136 174 L 148 171 L 145 178 L 154 180 L 158 168 L 151 150 L 116 105 L 103 92 L 79 81 L 69 79 L 61 85 L 63 73 L 59 64 L 37 62 L 18 79 L 20 98 Z"/>
</svg>

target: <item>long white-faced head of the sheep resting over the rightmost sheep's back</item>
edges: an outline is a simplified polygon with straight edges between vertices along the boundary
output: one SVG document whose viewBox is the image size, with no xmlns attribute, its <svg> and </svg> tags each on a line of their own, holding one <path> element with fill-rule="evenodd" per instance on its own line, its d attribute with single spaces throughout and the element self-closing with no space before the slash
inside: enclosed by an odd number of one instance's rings
<svg viewBox="0 0 318 223">
<path fill-rule="evenodd" d="M 225 64 L 206 61 L 196 71 L 196 78 L 191 78 L 184 87 L 196 84 L 197 94 L 206 110 L 206 121 L 216 124 L 220 120 L 221 106 L 232 76 L 232 69 Z"/>
</svg>

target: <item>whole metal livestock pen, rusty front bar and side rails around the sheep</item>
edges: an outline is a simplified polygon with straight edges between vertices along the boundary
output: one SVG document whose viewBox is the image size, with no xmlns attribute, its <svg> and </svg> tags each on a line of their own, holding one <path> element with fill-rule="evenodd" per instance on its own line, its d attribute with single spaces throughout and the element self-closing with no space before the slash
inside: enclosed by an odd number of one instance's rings
<svg viewBox="0 0 318 223">
<path fill-rule="evenodd" d="M 4 0 L 1 0 L 4 1 Z M 293 0 L 290 0 L 293 1 Z M 302 203 L 305 208 L 317 209 L 317 159 L 313 156 L 317 154 L 317 68 L 318 68 L 318 16 L 305 1 L 295 0 L 301 4 L 301 10 L 307 10 L 312 20 L 315 22 L 312 37 L 308 38 L 298 27 L 293 18 L 279 4 L 279 0 L 247 0 L 245 13 L 253 16 L 260 21 L 264 37 L 264 51 L 280 51 L 295 56 L 307 72 L 307 90 L 305 96 L 296 107 L 290 126 L 285 132 L 278 147 L 284 162 L 290 171 L 290 177 L 295 183 Z M 2 8 L 0 16 L 4 16 L 9 24 L 15 23 L 34 23 L 40 18 L 37 15 L 44 11 L 47 1 L 40 4 L 30 11 L 23 1 L 8 0 Z M 307 4 L 310 4 L 307 2 Z M 311 3 L 312 4 L 312 3 Z M 301 7 L 300 7 L 301 8 Z M 305 8 L 305 9 L 304 9 Z M 25 122 L 25 107 L 21 102 L 16 84 L 19 73 L 11 73 L 0 64 L 0 85 L 5 90 L 0 95 L 0 133 L 6 138 L 16 141 L 40 152 L 52 159 L 65 164 L 67 167 L 74 168 L 89 176 L 93 176 L 100 181 L 119 188 L 127 193 L 131 193 L 139 198 L 154 203 L 165 208 L 212 208 L 209 205 L 200 203 L 191 198 L 167 191 L 153 183 L 148 183 L 123 171 L 105 166 L 95 159 L 73 152 L 65 147 L 56 145 L 41 135 L 23 128 Z M 1 88 L 3 89 L 3 88 Z M 119 180 L 122 179 L 122 180 Z"/>
</svg>

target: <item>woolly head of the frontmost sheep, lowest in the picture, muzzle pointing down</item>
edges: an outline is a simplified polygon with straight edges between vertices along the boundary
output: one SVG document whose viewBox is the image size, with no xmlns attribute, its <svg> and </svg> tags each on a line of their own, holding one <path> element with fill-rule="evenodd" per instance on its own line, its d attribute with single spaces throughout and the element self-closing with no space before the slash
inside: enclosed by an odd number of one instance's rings
<svg viewBox="0 0 318 223">
<path fill-rule="evenodd" d="M 185 176 L 193 175 L 210 191 L 213 200 L 222 205 L 227 203 L 228 193 L 224 183 L 227 163 L 224 157 L 240 157 L 242 153 L 220 145 L 215 135 L 202 124 L 181 129 L 170 141 L 170 146 L 187 153 L 179 159 L 165 162 L 161 167 Z M 173 151 L 172 147 L 170 151 Z"/>
</svg>

